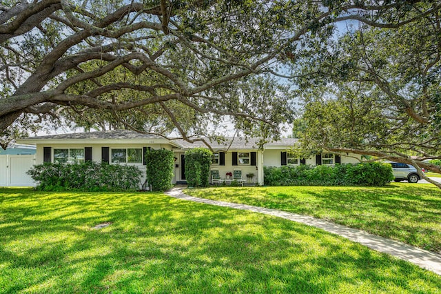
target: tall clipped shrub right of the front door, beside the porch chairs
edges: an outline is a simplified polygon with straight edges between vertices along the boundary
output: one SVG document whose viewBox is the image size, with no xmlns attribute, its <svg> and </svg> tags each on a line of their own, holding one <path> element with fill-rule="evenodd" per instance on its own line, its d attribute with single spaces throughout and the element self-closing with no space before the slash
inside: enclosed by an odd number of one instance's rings
<svg viewBox="0 0 441 294">
<path fill-rule="evenodd" d="M 185 178 L 188 186 L 208 186 L 212 157 L 213 153 L 205 148 L 194 148 L 185 153 Z"/>
</svg>

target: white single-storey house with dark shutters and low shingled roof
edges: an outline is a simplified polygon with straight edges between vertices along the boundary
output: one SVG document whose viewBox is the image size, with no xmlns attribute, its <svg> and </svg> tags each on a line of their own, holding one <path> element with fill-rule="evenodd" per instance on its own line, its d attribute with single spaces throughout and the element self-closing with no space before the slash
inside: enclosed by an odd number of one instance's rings
<svg viewBox="0 0 441 294">
<path fill-rule="evenodd" d="M 35 144 L 37 154 L 35 164 L 43 162 L 106 161 L 109 164 L 129 164 L 138 166 L 145 177 L 143 154 L 147 148 L 172 150 L 175 167 L 172 182 L 185 182 L 185 151 L 196 147 L 207 147 L 198 142 L 190 144 L 182 139 L 165 139 L 163 137 L 136 133 L 130 130 L 113 130 L 106 132 L 74 133 L 49 135 L 17 139 L 19 144 Z M 309 159 L 298 159 L 289 156 L 289 150 L 296 139 L 285 138 L 267 143 L 263 150 L 256 146 L 256 139 L 227 138 L 223 144 L 212 143 L 214 150 L 212 170 L 218 170 L 220 177 L 240 170 L 242 177 L 253 173 L 253 183 L 263 184 L 263 166 L 283 166 L 299 164 L 357 163 L 356 156 L 338 156 L 328 153 Z M 358 158 L 360 156 L 358 155 Z"/>
</svg>

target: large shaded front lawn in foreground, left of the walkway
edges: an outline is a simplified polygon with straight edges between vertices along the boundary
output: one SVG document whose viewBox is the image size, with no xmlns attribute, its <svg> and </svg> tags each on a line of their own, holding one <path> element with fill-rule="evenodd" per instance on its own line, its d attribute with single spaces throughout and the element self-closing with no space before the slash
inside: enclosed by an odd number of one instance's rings
<svg viewBox="0 0 441 294">
<path fill-rule="evenodd" d="M 441 276 L 258 213 L 157 193 L 3 188 L 0 292 L 441 293 Z"/>
</svg>

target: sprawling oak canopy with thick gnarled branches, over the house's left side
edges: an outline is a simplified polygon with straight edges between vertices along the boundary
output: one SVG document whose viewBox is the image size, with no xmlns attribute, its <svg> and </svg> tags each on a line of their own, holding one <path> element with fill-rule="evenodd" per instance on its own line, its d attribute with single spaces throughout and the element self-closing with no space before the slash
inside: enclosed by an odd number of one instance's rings
<svg viewBox="0 0 441 294">
<path fill-rule="evenodd" d="M 5 0 L 1 141 L 48 121 L 191 141 L 225 117 L 278 137 L 293 117 L 274 76 L 286 63 L 314 59 L 339 21 L 400 28 L 438 13 L 431 2 Z"/>
</svg>

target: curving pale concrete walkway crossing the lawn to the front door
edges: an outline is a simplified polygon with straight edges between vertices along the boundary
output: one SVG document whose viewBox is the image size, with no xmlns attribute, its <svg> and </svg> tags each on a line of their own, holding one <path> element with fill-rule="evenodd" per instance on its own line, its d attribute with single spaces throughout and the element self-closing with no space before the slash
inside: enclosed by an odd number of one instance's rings
<svg viewBox="0 0 441 294">
<path fill-rule="evenodd" d="M 322 230 L 325 230 L 329 233 L 340 235 L 353 242 L 365 245 L 373 250 L 393 255 L 400 259 L 406 260 L 407 262 L 416 264 L 417 266 L 420 266 L 422 268 L 426 268 L 429 271 L 433 271 L 433 273 L 441 275 L 441 255 L 437 253 L 432 253 L 418 247 L 410 246 L 384 237 L 372 235 L 364 231 L 357 230 L 356 228 L 349 228 L 340 224 L 333 224 L 331 222 L 326 222 L 322 219 L 316 219 L 314 217 L 309 217 L 306 215 L 297 215 L 295 213 L 287 213 L 285 211 L 270 208 L 192 197 L 184 194 L 182 192 L 182 189 L 182 187 L 172 188 L 172 190 L 167 191 L 165 194 L 170 195 L 171 197 L 192 202 L 200 202 L 216 206 L 225 206 L 229 208 L 249 210 L 254 211 L 255 213 L 264 213 L 265 215 L 274 215 L 276 217 L 289 219 L 293 222 L 306 224 L 308 226 L 315 226 L 316 228 L 321 228 Z"/>
</svg>

